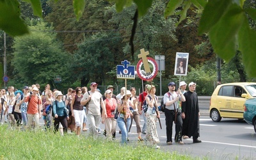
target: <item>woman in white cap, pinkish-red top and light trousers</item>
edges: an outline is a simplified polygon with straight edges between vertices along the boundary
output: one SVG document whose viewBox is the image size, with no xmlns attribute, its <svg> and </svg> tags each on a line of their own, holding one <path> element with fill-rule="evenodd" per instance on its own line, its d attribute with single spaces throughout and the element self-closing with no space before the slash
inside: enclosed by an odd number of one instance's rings
<svg viewBox="0 0 256 160">
<path fill-rule="evenodd" d="M 106 90 L 105 92 L 106 99 L 104 100 L 104 104 L 106 106 L 106 112 L 108 118 L 104 118 L 102 116 L 102 120 L 104 121 L 106 128 L 106 137 L 108 140 L 112 140 L 112 135 L 116 131 L 116 120 L 115 120 L 115 109 L 117 106 L 116 99 L 112 98 L 111 90 Z"/>
</svg>

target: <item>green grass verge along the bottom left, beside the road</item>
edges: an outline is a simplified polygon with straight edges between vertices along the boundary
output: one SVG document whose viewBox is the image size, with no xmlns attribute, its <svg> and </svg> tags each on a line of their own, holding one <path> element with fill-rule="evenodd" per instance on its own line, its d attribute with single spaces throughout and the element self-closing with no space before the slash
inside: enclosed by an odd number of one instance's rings
<svg viewBox="0 0 256 160">
<path fill-rule="evenodd" d="M 121 146 L 117 140 L 11 130 L 8 125 L 0 125 L 0 144 L 0 159 L 195 159 L 146 147 L 144 143 Z"/>
</svg>

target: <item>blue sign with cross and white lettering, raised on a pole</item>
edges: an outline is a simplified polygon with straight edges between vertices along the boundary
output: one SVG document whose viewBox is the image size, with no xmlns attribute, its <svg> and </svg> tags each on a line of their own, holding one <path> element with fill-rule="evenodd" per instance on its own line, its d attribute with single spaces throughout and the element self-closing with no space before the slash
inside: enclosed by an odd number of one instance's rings
<svg viewBox="0 0 256 160">
<path fill-rule="evenodd" d="M 117 79 L 135 79 L 135 66 L 129 66 L 129 61 L 124 60 L 121 62 L 123 65 L 116 65 L 116 78 Z"/>
</svg>

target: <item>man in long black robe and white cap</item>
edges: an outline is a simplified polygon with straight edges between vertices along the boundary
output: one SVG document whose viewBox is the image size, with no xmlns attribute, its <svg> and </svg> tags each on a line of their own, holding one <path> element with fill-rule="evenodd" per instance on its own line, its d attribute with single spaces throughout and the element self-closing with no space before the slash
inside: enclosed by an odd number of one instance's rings
<svg viewBox="0 0 256 160">
<path fill-rule="evenodd" d="M 199 106 L 198 106 L 198 97 L 195 93 L 196 83 L 189 83 L 189 91 L 184 93 L 186 99 L 185 102 L 182 102 L 182 135 L 186 135 L 189 138 L 193 136 L 193 143 L 201 143 L 202 141 L 198 140 L 199 134 Z"/>
</svg>

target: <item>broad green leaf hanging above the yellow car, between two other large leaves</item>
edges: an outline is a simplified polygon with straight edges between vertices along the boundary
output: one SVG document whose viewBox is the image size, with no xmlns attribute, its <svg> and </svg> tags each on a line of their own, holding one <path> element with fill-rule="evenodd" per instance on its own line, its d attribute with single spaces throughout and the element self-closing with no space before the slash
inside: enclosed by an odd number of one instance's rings
<svg viewBox="0 0 256 160">
<path fill-rule="evenodd" d="M 209 31 L 209 38 L 221 58 L 230 60 L 236 54 L 237 33 L 244 21 L 244 12 L 237 4 L 232 4 L 227 13 L 221 17 Z"/>
</svg>

